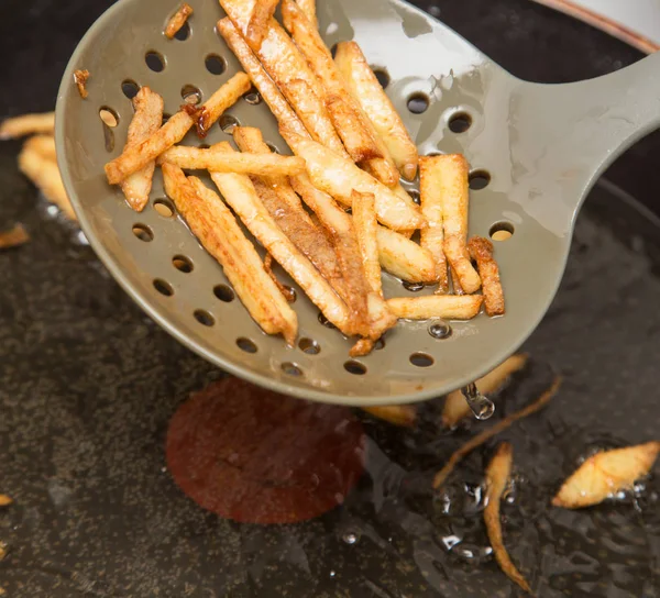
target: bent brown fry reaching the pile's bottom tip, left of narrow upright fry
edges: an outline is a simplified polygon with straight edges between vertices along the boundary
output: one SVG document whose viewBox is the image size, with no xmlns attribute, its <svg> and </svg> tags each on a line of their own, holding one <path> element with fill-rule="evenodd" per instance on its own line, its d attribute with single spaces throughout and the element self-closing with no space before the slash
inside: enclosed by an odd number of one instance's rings
<svg viewBox="0 0 660 598">
<path fill-rule="evenodd" d="M 328 193 L 314 187 L 307 176 L 295 177 L 292 179 L 292 184 L 305 203 L 307 203 L 322 225 L 329 231 L 334 242 L 340 268 L 343 274 L 344 289 L 342 297 L 351 308 L 353 321 L 362 329 L 356 331 L 356 333 L 371 341 L 377 341 L 385 331 L 396 324 L 396 318 L 389 311 L 383 298 L 371 291 L 364 275 L 364 268 L 362 267 L 360 246 L 351 217 Z M 369 318 L 366 318 L 369 322 L 365 322 L 365 313 L 369 314 Z M 360 353 L 364 355 L 371 352 L 373 344 L 364 342 L 359 343 L 356 347 L 354 347 L 352 354 L 356 355 Z"/>
</svg>

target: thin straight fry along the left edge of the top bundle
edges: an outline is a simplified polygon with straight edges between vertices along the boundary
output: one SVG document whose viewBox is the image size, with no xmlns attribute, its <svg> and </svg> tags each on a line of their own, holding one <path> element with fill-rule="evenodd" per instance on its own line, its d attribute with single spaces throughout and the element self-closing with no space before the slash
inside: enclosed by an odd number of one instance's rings
<svg viewBox="0 0 660 598">
<path fill-rule="evenodd" d="M 280 126 L 297 135 L 309 137 L 309 132 L 305 129 L 302 121 L 300 121 L 298 115 L 292 110 L 292 107 L 284 99 L 279 89 L 277 89 L 277 86 L 264 70 L 256 56 L 252 53 L 252 49 L 250 49 L 245 40 L 243 40 L 239 30 L 229 18 L 218 21 L 217 29 L 227 42 L 227 45 L 241 63 L 245 73 L 248 73 L 252 79 L 252 84 L 256 87 L 261 97 L 268 104 L 271 112 L 273 112 Z"/>
</svg>

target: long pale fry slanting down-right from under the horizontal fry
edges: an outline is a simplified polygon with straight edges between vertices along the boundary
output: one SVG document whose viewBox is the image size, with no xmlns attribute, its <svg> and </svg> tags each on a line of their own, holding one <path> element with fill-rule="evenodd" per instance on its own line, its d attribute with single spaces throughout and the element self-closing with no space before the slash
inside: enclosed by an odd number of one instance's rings
<svg viewBox="0 0 660 598">
<path fill-rule="evenodd" d="M 229 144 L 213 148 L 232 153 Z M 244 175 L 211 171 L 213 182 L 226 201 L 243 221 L 248 230 L 258 240 L 274 259 L 298 283 L 309 299 L 321 310 L 328 320 L 345 334 L 351 334 L 351 318 L 345 303 L 334 294 L 332 287 L 282 232 L 261 202 L 254 185 Z"/>
</svg>

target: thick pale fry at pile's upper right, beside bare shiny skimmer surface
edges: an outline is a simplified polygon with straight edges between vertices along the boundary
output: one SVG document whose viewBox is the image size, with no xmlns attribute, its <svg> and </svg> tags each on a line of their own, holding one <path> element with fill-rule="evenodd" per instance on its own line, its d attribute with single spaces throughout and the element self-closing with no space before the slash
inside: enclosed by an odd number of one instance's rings
<svg viewBox="0 0 660 598">
<path fill-rule="evenodd" d="M 337 46 L 334 63 L 383 140 L 400 175 L 413 180 L 417 175 L 417 146 L 358 43 L 341 42 Z"/>
</svg>

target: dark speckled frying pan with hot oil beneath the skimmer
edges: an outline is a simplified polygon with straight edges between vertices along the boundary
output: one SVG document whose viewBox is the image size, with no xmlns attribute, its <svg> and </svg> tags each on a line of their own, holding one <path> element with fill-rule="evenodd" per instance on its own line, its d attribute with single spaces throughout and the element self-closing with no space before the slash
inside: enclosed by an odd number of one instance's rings
<svg viewBox="0 0 660 598">
<path fill-rule="evenodd" d="M 53 107 L 70 52 L 109 4 L 4 0 L 0 45 L 13 58 L 2 66 L 1 115 Z M 438 5 L 526 79 L 579 80 L 640 57 L 526 0 Z M 502 436 L 516 454 L 507 545 L 539 596 L 658 595 L 657 479 L 582 512 L 551 509 L 548 498 L 591 450 L 658 438 L 659 143 L 639 143 L 593 190 L 562 289 L 526 346 L 532 365 L 496 416 L 538 394 L 551 367 L 564 375 L 547 411 Z M 430 491 L 468 438 L 438 430 L 441 400 L 422 406 L 415 431 L 363 418 L 366 473 L 343 507 L 308 522 L 235 523 L 184 496 L 167 470 L 168 422 L 222 374 L 145 319 L 77 231 L 50 215 L 16 171 L 16 150 L 0 146 L 0 221 L 24 222 L 33 241 L 0 254 L 0 492 L 15 498 L 0 512 L 9 596 L 517 595 L 481 523 L 494 444 Z"/>
</svg>

